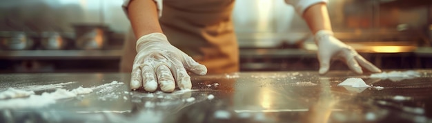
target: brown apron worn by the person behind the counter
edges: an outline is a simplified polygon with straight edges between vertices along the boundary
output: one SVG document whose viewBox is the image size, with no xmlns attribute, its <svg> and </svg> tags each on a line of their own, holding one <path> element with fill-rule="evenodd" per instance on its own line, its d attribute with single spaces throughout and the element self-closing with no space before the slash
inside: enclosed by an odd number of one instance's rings
<svg viewBox="0 0 432 123">
<path fill-rule="evenodd" d="M 164 0 L 159 19 L 168 41 L 198 63 L 208 74 L 239 71 L 239 49 L 233 29 L 232 0 Z M 130 72 L 135 52 L 130 32 L 124 43 L 120 71 Z"/>
</svg>

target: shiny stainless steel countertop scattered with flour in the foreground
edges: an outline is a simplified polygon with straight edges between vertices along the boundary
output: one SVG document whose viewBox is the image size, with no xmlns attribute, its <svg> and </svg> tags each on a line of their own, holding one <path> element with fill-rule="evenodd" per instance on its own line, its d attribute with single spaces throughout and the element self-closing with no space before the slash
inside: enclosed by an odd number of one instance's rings
<svg viewBox="0 0 432 123">
<path fill-rule="evenodd" d="M 130 91 L 130 74 L 0 74 L 0 91 L 64 82 L 75 82 L 64 89 L 125 83 L 48 107 L 1 109 L 0 122 L 432 122 L 432 70 L 417 71 L 419 78 L 394 81 L 351 71 L 192 76 L 193 91 L 175 93 Z M 384 89 L 336 86 L 346 78 L 362 78 Z M 36 94 L 45 91 L 52 89 Z M 101 100 L 113 93 L 120 98 Z M 210 94 L 213 100 L 207 98 Z M 396 96 L 406 100 L 393 100 Z M 195 100 L 187 101 L 191 97 Z"/>
</svg>

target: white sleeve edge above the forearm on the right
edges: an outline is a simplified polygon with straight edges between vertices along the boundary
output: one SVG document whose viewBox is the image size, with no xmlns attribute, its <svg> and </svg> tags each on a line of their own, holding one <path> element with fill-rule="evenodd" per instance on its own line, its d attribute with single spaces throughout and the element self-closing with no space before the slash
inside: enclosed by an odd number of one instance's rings
<svg viewBox="0 0 432 123">
<path fill-rule="evenodd" d="M 285 2 L 293 5 L 295 8 L 295 12 L 302 16 L 304 10 L 311 7 L 311 5 L 314 5 L 316 3 L 328 3 L 328 0 L 285 0 Z"/>
</svg>

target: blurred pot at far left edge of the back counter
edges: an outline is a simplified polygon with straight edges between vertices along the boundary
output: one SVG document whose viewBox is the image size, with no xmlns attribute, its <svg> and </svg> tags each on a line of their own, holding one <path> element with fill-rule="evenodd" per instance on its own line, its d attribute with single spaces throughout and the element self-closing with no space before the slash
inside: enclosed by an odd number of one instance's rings
<svg viewBox="0 0 432 123">
<path fill-rule="evenodd" d="M 26 32 L 0 32 L 0 49 L 23 50 L 32 46 L 33 40 Z"/>
</svg>

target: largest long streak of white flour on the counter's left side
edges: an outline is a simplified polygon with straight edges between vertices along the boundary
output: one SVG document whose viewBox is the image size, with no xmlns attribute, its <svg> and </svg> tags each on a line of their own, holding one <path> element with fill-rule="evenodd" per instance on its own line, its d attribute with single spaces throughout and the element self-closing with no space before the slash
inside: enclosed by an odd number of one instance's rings
<svg viewBox="0 0 432 123">
<path fill-rule="evenodd" d="M 113 81 L 105 85 L 99 85 L 97 87 L 78 87 L 77 89 L 72 89 L 70 91 L 66 89 L 57 89 L 54 92 L 48 93 L 44 92 L 41 95 L 30 94 L 29 98 L 12 98 L 8 100 L 0 100 L 0 109 L 19 109 L 19 108 L 38 108 L 46 107 L 49 104 L 55 104 L 56 100 L 63 98 L 73 98 L 80 94 L 92 93 L 95 89 L 104 89 L 112 85 L 123 85 L 123 82 Z M 8 91 L 3 91 L 2 93 L 13 93 L 22 90 L 8 89 Z M 27 91 L 31 93 L 32 91 Z"/>
</svg>

